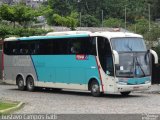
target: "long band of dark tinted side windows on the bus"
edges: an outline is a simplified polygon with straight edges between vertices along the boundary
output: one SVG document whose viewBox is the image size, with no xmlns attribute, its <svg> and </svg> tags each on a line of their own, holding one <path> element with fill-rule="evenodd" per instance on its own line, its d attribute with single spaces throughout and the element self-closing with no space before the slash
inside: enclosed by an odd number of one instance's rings
<svg viewBox="0 0 160 120">
<path fill-rule="evenodd" d="M 34 41 L 10 41 L 4 43 L 4 53 L 8 55 L 96 55 L 94 38 L 72 38 Z"/>
</svg>

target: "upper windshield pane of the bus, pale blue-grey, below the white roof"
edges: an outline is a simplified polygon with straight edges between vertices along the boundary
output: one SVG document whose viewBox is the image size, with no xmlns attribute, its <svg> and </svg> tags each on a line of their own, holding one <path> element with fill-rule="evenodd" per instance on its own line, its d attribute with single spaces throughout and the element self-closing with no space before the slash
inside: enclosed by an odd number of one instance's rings
<svg viewBox="0 0 160 120">
<path fill-rule="evenodd" d="M 125 51 L 146 51 L 146 46 L 142 38 L 112 38 L 112 47 L 118 52 Z"/>
</svg>

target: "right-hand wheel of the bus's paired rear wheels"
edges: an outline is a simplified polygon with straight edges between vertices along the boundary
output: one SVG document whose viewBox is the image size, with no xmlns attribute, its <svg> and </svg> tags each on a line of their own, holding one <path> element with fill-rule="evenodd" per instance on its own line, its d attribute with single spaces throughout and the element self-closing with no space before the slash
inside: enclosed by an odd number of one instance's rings
<svg viewBox="0 0 160 120">
<path fill-rule="evenodd" d="M 28 91 L 30 91 L 30 92 L 34 91 L 34 89 L 35 89 L 34 80 L 31 76 L 27 77 L 26 85 L 27 85 Z"/>
</svg>

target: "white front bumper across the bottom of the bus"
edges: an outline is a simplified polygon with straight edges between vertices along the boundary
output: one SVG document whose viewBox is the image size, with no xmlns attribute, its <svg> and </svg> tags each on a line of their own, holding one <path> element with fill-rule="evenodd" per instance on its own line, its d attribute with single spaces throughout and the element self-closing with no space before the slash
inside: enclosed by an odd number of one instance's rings
<svg viewBox="0 0 160 120">
<path fill-rule="evenodd" d="M 116 92 L 145 91 L 151 88 L 151 83 L 139 85 L 117 85 Z"/>
</svg>

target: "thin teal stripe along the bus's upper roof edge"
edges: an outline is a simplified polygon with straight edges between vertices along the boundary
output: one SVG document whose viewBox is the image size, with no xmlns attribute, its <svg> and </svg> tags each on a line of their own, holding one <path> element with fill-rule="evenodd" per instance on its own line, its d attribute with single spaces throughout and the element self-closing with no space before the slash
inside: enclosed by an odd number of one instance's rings
<svg viewBox="0 0 160 120">
<path fill-rule="evenodd" d="M 46 40 L 46 39 L 63 39 L 63 38 L 81 38 L 89 37 L 88 34 L 78 34 L 78 35 L 64 35 L 64 36 L 31 36 L 17 38 L 17 40 Z"/>
</svg>

